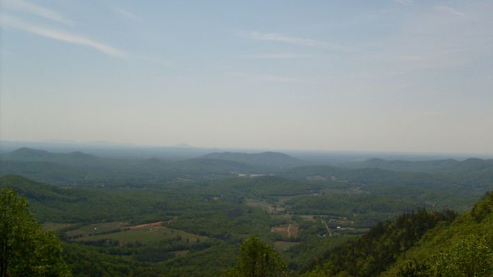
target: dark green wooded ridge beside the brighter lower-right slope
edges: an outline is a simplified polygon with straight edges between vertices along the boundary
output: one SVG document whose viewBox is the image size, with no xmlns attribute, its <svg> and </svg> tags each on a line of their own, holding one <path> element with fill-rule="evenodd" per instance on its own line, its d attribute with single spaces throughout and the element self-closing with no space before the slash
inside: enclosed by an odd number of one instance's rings
<svg viewBox="0 0 493 277">
<path fill-rule="evenodd" d="M 332 249 L 316 265 L 315 272 L 337 276 L 377 276 L 410 249 L 437 224 L 454 219 L 453 212 L 419 210 L 404 214 L 392 221 L 381 222 L 362 237 Z"/>
</svg>

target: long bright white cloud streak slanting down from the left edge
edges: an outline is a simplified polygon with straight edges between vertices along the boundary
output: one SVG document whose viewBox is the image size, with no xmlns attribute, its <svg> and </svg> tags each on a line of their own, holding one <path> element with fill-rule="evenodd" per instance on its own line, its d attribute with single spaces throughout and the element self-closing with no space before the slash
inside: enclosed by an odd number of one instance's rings
<svg viewBox="0 0 493 277">
<path fill-rule="evenodd" d="M 109 56 L 113 56 L 117 58 L 124 58 L 125 56 L 127 56 L 127 53 L 121 51 L 120 49 L 116 49 L 115 47 L 111 47 L 108 44 L 104 44 L 102 42 L 97 42 L 96 40 L 92 40 L 88 37 L 83 37 L 81 35 L 74 35 L 72 33 L 66 33 L 63 31 L 58 31 L 50 28 L 35 26 L 32 24 L 22 22 L 21 20 L 18 20 L 15 17 L 10 17 L 8 15 L 3 15 L 0 18 L 0 22 L 5 26 L 17 28 L 19 30 L 26 31 L 28 33 L 40 35 L 42 37 L 49 37 L 53 40 L 59 40 L 62 42 L 79 44 L 82 46 L 90 47 Z"/>
</svg>

